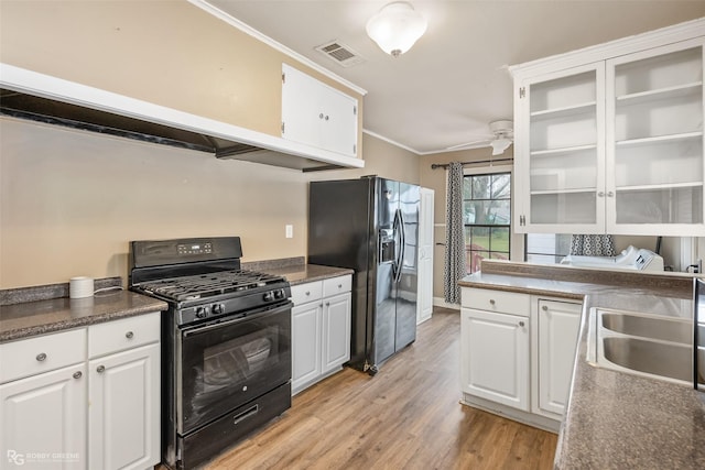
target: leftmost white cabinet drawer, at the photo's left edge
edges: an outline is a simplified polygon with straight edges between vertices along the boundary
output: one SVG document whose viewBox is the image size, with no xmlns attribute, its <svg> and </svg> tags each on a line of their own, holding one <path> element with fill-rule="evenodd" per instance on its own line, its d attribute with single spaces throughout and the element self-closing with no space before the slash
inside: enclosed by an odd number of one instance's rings
<svg viewBox="0 0 705 470">
<path fill-rule="evenodd" d="M 3 343 L 0 358 L 0 383 L 84 362 L 86 329 Z"/>
</svg>

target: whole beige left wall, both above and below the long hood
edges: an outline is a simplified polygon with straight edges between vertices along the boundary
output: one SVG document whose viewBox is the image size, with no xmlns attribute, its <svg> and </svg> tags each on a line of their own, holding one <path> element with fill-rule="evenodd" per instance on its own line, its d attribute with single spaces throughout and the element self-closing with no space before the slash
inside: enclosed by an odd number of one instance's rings
<svg viewBox="0 0 705 470">
<path fill-rule="evenodd" d="M 276 135 L 281 64 L 322 74 L 184 0 L 0 2 L 3 63 Z M 417 156 L 360 132 L 366 167 L 300 173 L 0 118 L 0 288 L 126 276 L 130 240 L 242 238 L 306 254 L 307 182 L 419 183 Z M 284 238 L 284 226 L 294 238 Z"/>
</svg>

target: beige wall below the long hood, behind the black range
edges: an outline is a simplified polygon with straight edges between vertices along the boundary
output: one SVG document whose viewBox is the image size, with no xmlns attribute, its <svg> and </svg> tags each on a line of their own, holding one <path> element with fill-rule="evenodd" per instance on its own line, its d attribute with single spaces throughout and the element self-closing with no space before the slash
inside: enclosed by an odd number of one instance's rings
<svg viewBox="0 0 705 470">
<path fill-rule="evenodd" d="M 304 174 L 11 118 L 0 134 L 0 288 L 126 276 L 130 240 L 235 234 L 243 261 L 306 255 L 310 179 L 419 183 L 417 156 L 369 135 L 366 168 Z"/>
</svg>

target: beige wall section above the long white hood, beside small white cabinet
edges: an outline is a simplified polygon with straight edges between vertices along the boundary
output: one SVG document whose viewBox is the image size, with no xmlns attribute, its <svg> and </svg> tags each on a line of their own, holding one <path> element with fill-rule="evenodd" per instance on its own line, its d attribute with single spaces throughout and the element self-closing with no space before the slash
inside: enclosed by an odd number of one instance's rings
<svg viewBox="0 0 705 470">
<path fill-rule="evenodd" d="M 271 135 L 285 62 L 357 98 L 362 127 L 361 95 L 185 0 L 2 0 L 0 59 Z"/>
</svg>

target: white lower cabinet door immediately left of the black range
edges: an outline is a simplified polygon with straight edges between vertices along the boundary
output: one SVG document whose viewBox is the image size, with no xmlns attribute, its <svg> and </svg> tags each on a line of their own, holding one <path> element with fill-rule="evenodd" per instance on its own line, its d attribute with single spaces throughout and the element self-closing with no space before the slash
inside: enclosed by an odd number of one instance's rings
<svg viewBox="0 0 705 470">
<path fill-rule="evenodd" d="M 88 364 L 91 469 L 144 469 L 160 461 L 160 346 Z"/>
</svg>

